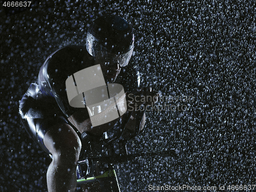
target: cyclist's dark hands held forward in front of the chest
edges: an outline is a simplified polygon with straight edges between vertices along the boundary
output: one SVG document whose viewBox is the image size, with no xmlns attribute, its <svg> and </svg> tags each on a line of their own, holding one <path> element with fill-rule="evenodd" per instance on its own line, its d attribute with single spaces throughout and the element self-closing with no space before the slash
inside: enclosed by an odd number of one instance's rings
<svg viewBox="0 0 256 192">
<path fill-rule="evenodd" d="M 128 110 L 137 110 L 140 105 L 154 105 L 157 102 L 159 93 L 152 88 L 140 88 L 134 92 L 126 93 Z"/>
</svg>

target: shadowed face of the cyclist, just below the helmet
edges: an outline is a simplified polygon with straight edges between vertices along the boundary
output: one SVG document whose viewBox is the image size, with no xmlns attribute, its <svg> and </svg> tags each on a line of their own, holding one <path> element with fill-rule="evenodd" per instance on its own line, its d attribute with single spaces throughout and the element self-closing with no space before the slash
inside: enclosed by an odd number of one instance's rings
<svg viewBox="0 0 256 192">
<path fill-rule="evenodd" d="M 103 76 L 106 81 L 114 82 L 120 73 L 120 66 L 114 54 L 105 56 L 98 55 L 95 58 L 96 64 L 100 64 Z"/>
</svg>

